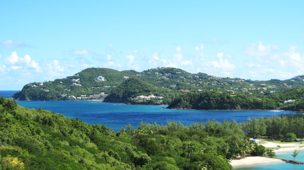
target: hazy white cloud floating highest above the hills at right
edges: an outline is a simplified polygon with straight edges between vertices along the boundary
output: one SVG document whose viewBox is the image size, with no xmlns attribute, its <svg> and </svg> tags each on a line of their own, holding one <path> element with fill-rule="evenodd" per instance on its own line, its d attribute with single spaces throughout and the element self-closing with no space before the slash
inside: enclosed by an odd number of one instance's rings
<svg viewBox="0 0 304 170">
<path fill-rule="evenodd" d="M 279 47 L 277 45 L 263 45 L 262 41 L 260 41 L 259 44 L 252 44 L 251 46 L 247 46 L 244 53 L 253 56 L 266 56 L 271 54 L 272 51 L 278 49 Z"/>
</svg>

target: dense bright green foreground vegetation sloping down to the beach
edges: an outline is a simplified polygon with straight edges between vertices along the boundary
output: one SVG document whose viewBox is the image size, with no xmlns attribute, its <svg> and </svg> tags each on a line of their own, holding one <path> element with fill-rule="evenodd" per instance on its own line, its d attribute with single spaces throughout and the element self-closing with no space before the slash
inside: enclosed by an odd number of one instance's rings
<svg viewBox="0 0 304 170">
<path fill-rule="evenodd" d="M 236 121 L 141 122 L 115 134 L 2 96 L 0 169 L 232 169 L 226 159 L 266 152 L 248 140 L 243 127 Z"/>
</svg>

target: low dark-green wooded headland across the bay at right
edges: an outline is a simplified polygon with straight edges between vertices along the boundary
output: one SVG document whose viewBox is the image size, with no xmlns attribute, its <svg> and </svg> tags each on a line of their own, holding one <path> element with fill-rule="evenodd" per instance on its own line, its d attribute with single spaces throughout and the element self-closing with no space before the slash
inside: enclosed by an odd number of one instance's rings
<svg viewBox="0 0 304 170">
<path fill-rule="evenodd" d="M 198 110 L 304 110 L 304 88 L 282 90 L 265 95 L 248 95 L 247 93 L 221 92 L 219 90 L 186 93 L 180 95 L 167 107 L 168 109 Z M 286 100 L 295 100 L 282 105 Z"/>
</svg>

